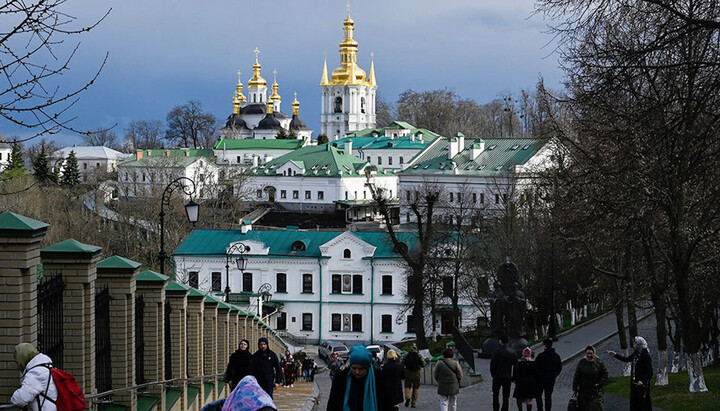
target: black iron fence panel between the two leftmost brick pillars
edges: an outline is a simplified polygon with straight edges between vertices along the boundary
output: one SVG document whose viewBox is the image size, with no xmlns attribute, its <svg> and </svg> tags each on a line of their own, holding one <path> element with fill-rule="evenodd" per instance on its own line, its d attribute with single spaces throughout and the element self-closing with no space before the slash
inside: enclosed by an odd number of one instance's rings
<svg viewBox="0 0 720 411">
<path fill-rule="evenodd" d="M 38 350 L 63 368 L 62 273 L 46 276 L 38 286 Z"/>
</svg>

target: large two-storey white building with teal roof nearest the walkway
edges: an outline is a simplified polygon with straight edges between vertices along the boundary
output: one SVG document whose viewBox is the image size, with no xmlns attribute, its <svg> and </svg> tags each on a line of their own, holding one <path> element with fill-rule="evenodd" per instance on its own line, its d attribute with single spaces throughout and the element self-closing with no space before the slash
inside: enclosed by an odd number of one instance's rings
<svg viewBox="0 0 720 411">
<path fill-rule="evenodd" d="M 400 235 L 413 247 L 412 233 Z M 240 271 L 240 255 L 227 252 L 243 246 L 249 250 Z M 408 271 L 385 232 L 195 230 L 171 259 L 176 281 L 222 296 L 229 283 L 230 302 L 246 311 L 258 312 L 258 290 L 269 286 L 270 301 L 262 304 L 266 322 L 311 343 L 415 336 L 405 295 Z M 473 326 L 477 312 L 462 303 L 461 310 L 463 324 Z"/>
</svg>

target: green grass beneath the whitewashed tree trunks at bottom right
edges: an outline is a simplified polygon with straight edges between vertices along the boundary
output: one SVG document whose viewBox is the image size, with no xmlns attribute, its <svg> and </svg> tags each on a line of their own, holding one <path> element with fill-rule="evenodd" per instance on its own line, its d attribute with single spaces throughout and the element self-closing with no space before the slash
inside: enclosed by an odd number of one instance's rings
<svg viewBox="0 0 720 411">
<path fill-rule="evenodd" d="M 720 408 L 720 366 L 703 369 L 705 385 L 709 392 L 690 393 L 690 378 L 687 372 L 670 374 L 669 384 L 650 387 L 653 407 L 667 411 L 717 411 Z M 655 384 L 653 378 L 652 384 Z M 630 377 L 610 378 L 605 392 L 622 398 L 630 398 Z"/>
</svg>

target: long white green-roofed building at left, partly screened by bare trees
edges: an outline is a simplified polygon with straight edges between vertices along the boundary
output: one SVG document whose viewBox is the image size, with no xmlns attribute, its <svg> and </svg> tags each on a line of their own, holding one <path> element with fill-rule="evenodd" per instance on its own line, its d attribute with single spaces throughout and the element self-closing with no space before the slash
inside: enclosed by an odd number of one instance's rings
<svg viewBox="0 0 720 411">
<path fill-rule="evenodd" d="M 120 195 L 140 197 L 163 190 L 180 177 L 195 182 L 194 199 L 211 198 L 218 183 L 218 166 L 209 149 L 138 150 L 118 164 Z"/>
</svg>

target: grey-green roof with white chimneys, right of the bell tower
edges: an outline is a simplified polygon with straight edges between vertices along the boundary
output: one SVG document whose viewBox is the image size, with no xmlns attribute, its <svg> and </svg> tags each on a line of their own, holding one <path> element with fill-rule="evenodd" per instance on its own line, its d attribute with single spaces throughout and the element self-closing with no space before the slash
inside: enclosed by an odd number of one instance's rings
<svg viewBox="0 0 720 411">
<path fill-rule="evenodd" d="M 454 137 L 453 139 L 456 140 Z M 472 160 L 471 148 L 485 143 L 485 149 Z M 418 154 L 402 175 L 467 175 L 503 176 L 514 166 L 525 164 L 545 145 L 544 140 L 533 138 L 465 138 L 464 146 L 452 159 L 448 159 L 450 139 L 435 141 Z"/>
</svg>

